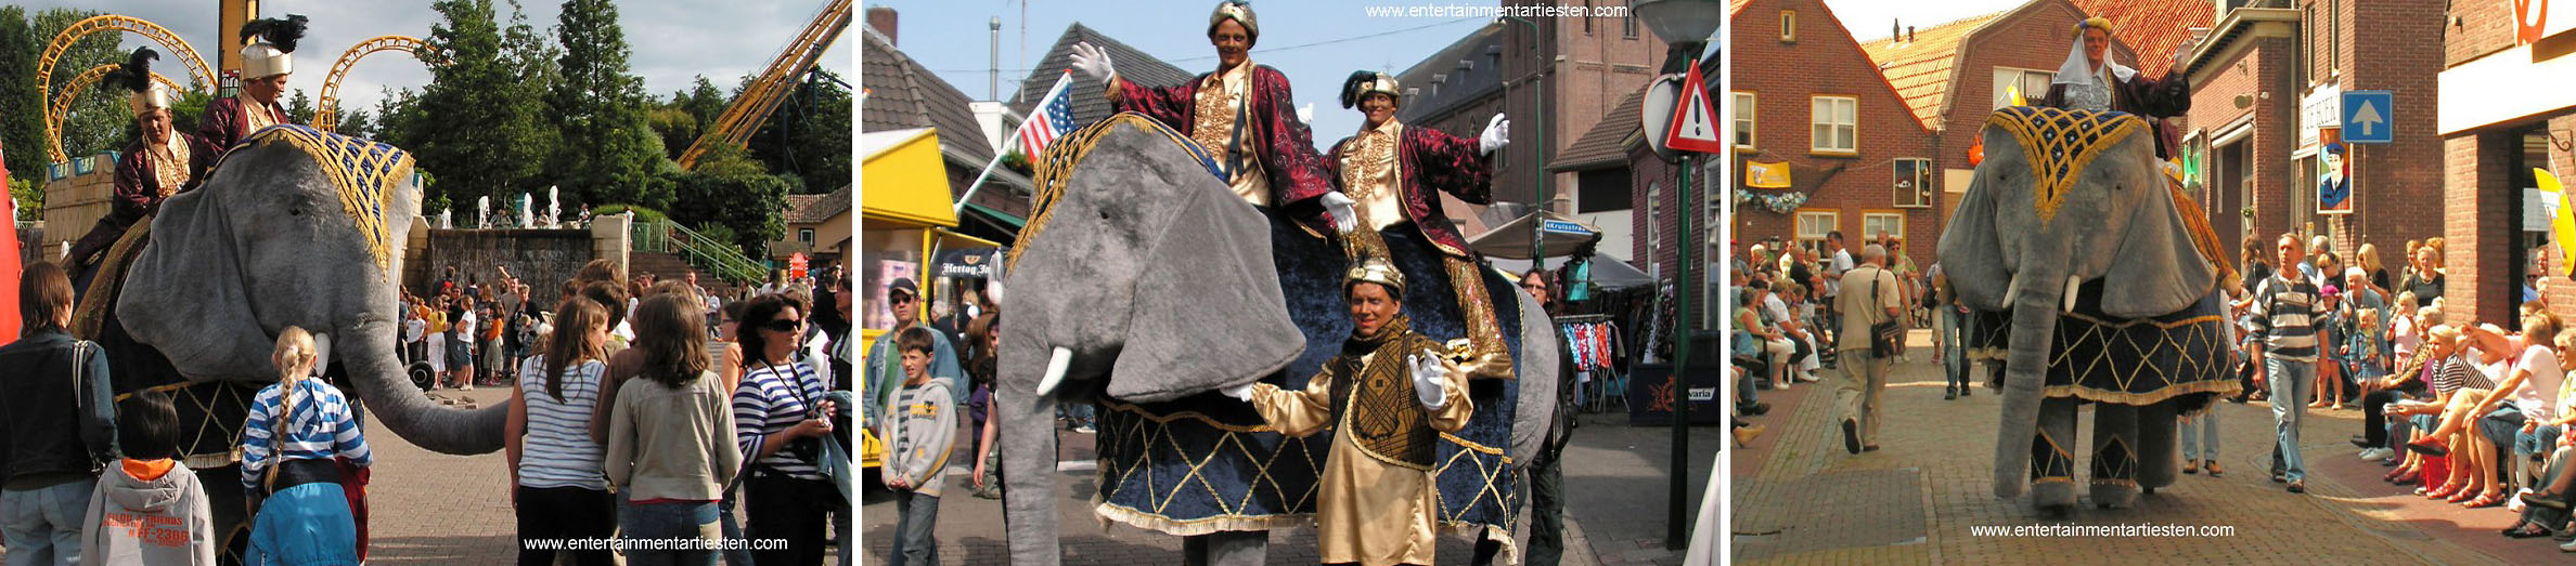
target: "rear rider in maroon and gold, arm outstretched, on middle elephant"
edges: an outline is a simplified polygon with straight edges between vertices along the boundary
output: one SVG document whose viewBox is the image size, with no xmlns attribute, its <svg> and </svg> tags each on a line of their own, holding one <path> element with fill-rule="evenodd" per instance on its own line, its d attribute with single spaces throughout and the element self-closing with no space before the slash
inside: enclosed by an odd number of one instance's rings
<svg viewBox="0 0 2576 566">
<path fill-rule="evenodd" d="M 1512 121 L 1494 113 L 1479 139 L 1463 139 L 1406 126 L 1396 118 L 1401 103 L 1404 90 L 1396 77 L 1383 72 L 1363 69 L 1342 82 L 1342 108 L 1360 108 L 1368 121 L 1360 134 L 1332 144 L 1340 193 L 1327 196 L 1324 208 L 1332 211 L 1334 229 L 1342 232 L 1342 250 L 1352 262 L 1386 255 L 1383 234 L 1388 232 L 1419 232 L 1432 250 L 1440 250 L 1458 296 L 1458 314 L 1466 322 L 1466 340 L 1473 347 L 1466 373 L 1510 378 L 1512 350 L 1502 342 L 1502 327 L 1494 322 L 1484 273 L 1476 268 L 1476 252 L 1466 247 L 1466 237 L 1440 211 L 1440 193 L 1466 203 L 1492 203 L 1494 175 L 1486 154 L 1510 144 Z"/>
</svg>

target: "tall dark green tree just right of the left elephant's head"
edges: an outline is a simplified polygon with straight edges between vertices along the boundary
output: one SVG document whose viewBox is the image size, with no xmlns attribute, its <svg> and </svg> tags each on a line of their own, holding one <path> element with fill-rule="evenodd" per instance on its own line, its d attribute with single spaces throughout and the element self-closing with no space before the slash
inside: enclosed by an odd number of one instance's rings
<svg viewBox="0 0 2576 566">
<path fill-rule="evenodd" d="M 518 85 L 518 72 L 502 59 L 500 21 L 492 0 L 440 0 L 428 44 L 440 51 L 430 62 L 430 85 L 417 98 L 417 113 L 381 113 L 412 149 L 420 170 L 435 172 L 430 201 L 471 203 L 541 188 L 544 116 Z M 435 118 L 430 118 L 435 116 Z"/>
</svg>

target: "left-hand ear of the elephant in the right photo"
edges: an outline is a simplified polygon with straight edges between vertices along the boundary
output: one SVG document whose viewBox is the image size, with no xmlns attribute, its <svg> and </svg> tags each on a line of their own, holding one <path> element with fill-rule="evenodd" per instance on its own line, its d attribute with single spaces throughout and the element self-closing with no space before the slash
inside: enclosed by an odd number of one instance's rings
<svg viewBox="0 0 2576 566">
<path fill-rule="evenodd" d="M 1950 288 L 1958 301 L 1978 311 L 2004 309 L 2004 288 L 2012 283 L 2012 270 L 2007 268 L 2004 242 L 1999 234 L 1994 206 L 1999 198 L 1994 190 L 2002 185 L 1986 183 L 1986 167 L 2022 167 L 2014 160 L 1996 162 L 1996 154 L 2012 154 L 2012 136 L 1986 139 L 1989 160 L 1968 175 L 1968 193 L 1960 196 L 1958 208 L 1953 208 L 1947 226 L 1940 234 L 1940 268 L 1950 275 Z"/>
</svg>

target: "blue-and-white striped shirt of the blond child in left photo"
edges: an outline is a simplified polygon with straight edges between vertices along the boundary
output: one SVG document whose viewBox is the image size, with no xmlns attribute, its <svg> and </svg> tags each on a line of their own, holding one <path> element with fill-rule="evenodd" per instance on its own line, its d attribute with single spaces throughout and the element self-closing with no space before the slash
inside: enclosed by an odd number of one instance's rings
<svg viewBox="0 0 2576 566">
<path fill-rule="evenodd" d="M 350 458 L 358 466 L 376 461 L 366 450 L 366 432 L 358 430 L 358 419 L 348 409 L 348 396 L 340 388 L 322 383 L 319 378 L 296 381 L 296 406 L 278 422 L 278 399 L 283 388 L 265 386 L 250 399 L 250 422 L 242 424 L 242 486 L 258 489 L 260 476 L 268 466 L 278 461 L 325 461 L 325 458 Z M 281 435 L 278 453 L 270 450 L 270 437 Z"/>
</svg>

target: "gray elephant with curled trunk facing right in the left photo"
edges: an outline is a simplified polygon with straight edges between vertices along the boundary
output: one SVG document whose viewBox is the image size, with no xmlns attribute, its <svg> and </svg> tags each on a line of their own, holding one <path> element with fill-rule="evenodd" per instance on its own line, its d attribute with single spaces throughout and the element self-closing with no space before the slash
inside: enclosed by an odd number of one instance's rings
<svg viewBox="0 0 2576 566">
<path fill-rule="evenodd" d="M 402 242 L 417 214 L 402 149 L 263 129 L 201 188 L 170 196 L 149 237 L 129 234 L 111 252 L 131 260 L 100 270 L 75 327 L 108 347 L 121 394 L 185 399 L 180 450 L 209 479 L 240 476 L 232 450 L 250 396 L 278 381 L 270 352 L 286 327 L 312 332 L 327 376 L 394 435 L 438 453 L 500 450 L 507 404 L 443 409 L 397 358 Z M 219 533 L 240 538 L 240 481 L 206 481 L 206 491 Z"/>
</svg>

